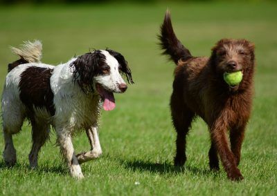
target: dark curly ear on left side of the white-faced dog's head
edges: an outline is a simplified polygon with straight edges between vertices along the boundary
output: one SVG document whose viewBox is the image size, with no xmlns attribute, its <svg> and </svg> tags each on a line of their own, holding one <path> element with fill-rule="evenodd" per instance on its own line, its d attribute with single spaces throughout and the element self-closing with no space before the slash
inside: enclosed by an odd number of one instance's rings
<svg viewBox="0 0 277 196">
<path fill-rule="evenodd" d="M 99 66 L 105 63 L 105 55 L 100 50 L 86 53 L 70 64 L 73 81 L 77 81 L 84 93 L 93 92 L 93 77 L 97 75 Z"/>
</svg>

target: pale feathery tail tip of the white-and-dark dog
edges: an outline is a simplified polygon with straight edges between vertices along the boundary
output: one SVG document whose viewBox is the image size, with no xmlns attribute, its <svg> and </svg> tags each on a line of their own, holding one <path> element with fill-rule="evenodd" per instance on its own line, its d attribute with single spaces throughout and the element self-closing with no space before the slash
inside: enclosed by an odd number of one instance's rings
<svg viewBox="0 0 277 196">
<path fill-rule="evenodd" d="M 42 43 L 39 40 L 24 41 L 20 48 L 10 47 L 12 53 L 19 55 L 28 63 L 39 63 L 42 59 Z"/>
</svg>

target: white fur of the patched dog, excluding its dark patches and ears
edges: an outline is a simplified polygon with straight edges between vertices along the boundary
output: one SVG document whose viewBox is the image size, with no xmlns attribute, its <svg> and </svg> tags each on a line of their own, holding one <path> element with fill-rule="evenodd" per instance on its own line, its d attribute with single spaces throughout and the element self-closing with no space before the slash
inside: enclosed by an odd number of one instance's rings
<svg viewBox="0 0 277 196">
<path fill-rule="evenodd" d="M 39 62 L 42 56 L 42 45 L 37 41 L 35 43 L 27 41 L 20 49 L 12 48 L 12 51 L 29 62 Z M 106 63 L 110 67 L 110 73 L 109 75 L 97 75 L 94 77 L 94 90 L 89 94 L 84 93 L 78 83 L 73 81 L 71 63 L 77 58 L 70 59 L 68 62 L 58 66 L 44 63 L 21 64 L 8 73 L 1 101 L 5 140 L 3 158 L 6 164 L 14 165 L 16 162 L 16 151 L 12 142 L 12 135 L 19 133 L 24 119 L 28 117 L 26 106 L 22 103 L 19 96 L 21 74 L 30 66 L 51 68 L 53 72 L 50 78 L 50 86 L 53 92 L 55 115 L 51 116 L 46 108 L 33 107 L 35 124 L 37 128 L 40 127 L 42 133 L 40 135 L 33 135 L 33 148 L 29 154 L 30 167 L 35 168 L 37 166 L 39 150 L 48 139 L 49 127 L 52 125 L 57 133 L 57 144 L 60 145 L 71 176 L 77 179 L 84 177 L 78 160 L 82 163 L 95 159 L 102 154 L 98 137 L 98 121 L 103 101 L 96 90 L 95 84 L 100 84 L 102 88 L 110 92 L 123 92 L 118 86 L 119 84 L 126 85 L 120 75 L 118 61 L 106 50 L 100 51 L 105 55 Z M 33 126 L 33 130 L 37 130 L 37 128 Z M 73 135 L 75 130 L 80 129 L 87 131 L 87 136 L 89 141 L 91 141 L 91 151 L 80 153 L 76 156 L 71 135 Z"/>
</svg>

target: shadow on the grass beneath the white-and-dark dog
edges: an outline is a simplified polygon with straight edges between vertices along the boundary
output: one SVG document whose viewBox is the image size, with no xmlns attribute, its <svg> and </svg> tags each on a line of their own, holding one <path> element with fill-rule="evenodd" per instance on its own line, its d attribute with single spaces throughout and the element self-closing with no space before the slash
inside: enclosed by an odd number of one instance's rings
<svg viewBox="0 0 277 196">
<path fill-rule="evenodd" d="M 0 161 L 0 170 L 3 169 L 18 170 L 19 172 L 22 170 L 29 170 L 30 172 L 34 171 L 37 174 L 53 173 L 64 176 L 69 175 L 67 168 L 63 164 L 57 164 L 55 166 L 50 164 L 42 164 L 41 166 L 37 166 L 35 169 L 30 169 L 28 164 L 21 164 L 20 162 L 17 162 L 15 166 L 6 166 L 5 161 Z"/>
</svg>

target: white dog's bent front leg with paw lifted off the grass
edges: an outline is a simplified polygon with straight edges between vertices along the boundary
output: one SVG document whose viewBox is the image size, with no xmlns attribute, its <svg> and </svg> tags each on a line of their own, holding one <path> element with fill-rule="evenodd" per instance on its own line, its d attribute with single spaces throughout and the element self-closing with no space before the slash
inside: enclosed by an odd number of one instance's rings
<svg viewBox="0 0 277 196">
<path fill-rule="evenodd" d="M 79 164 L 90 161 L 91 159 L 96 159 L 102 154 L 98 137 L 98 126 L 91 126 L 91 128 L 86 130 L 86 133 L 89 138 L 89 144 L 91 144 L 91 150 L 77 155 Z"/>
</svg>

